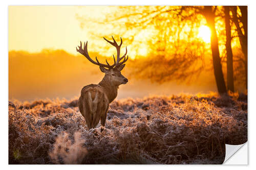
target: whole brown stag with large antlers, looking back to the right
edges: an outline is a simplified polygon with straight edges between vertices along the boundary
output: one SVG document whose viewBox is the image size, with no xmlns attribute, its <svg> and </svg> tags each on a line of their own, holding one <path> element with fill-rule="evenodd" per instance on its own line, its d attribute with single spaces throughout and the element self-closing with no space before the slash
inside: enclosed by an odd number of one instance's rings
<svg viewBox="0 0 256 170">
<path fill-rule="evenodd" d="M 127 46 L 125 47 L 125 54 L 120 57 L 120 48 L 122 45 L 122 38 L 120 37 L 120 44 L 118 45 L 114 37 L 112 36 L 113 42 L 107 40 L 103 37 L 108 43 L 116 47 L 117 50 L 117 58 L 114 58 L 114 64 L 110 65 L 106 60 L 106 64 L 102 64 L 98 61 L 97 57 L 96 61 L 91 59 L 87 51 L 87 43 L 88 41 L 82 43 L 80 41 L 80 46 L 78 49 L 76 47 L 76 51 L 86 57 L 91 63 L 98 65 L 101 72 L 105 75 L 103 79 L 98 84 L 90 84 L 84 86 L 81 90 L 81 94 L 78 100 L 78 108 L 82 116 L 86 119 L 86 124 L 90 129 L 94 129 L 98 124 L 99 120 L 101 126 L 105 127 L 106 115 L 109 110 L 110 103 L 114 101 L 117 96 L 117 89 L 121 84 L 126 84 L 128 79 L 126 79 L 122 74 L 121 70 L 125 66 L 125 62 L 128 60 L 127 54 Z M 101 127 L 101 132 L 103 128 Z"/>
</svg>

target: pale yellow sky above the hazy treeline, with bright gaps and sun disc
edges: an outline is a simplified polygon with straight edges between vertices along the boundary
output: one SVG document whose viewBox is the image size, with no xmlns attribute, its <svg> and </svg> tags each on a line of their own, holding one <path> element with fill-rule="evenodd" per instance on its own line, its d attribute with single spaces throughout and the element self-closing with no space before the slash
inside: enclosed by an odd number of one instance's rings
<svg viewBox="0 0 256 170">
<path fill-rule="evenodd" d="M 105 46 L 109 44 L 91 33 L 97 29 L 97 32 L 104 32 L 106 38 L 114 35 L 116 40 L 120 41 L 113 29 L 97 25 L 96 22 L 85 24 L 82 29 L 77 16 L 97 21 L 102 20 L 106 13 L 113 13 L 117 9 L 117 6 L 9 6 L 9 51 L 22 50 L 34 53 L 51 48 L 62 49 L 76 55 L 76 45 L 79 45 L 80 41 L 88 40 L 89 53 L 95 51 L 106 57 L 112 56 L 115 49 L 110 48 L 105 54 Z M 141 31 L 135 40 L 150 37 L 150 32 Z M 199 35 L 204 41 L 209 39 L 209 36 L 205 29 Z M 136 43 L 125 44 L 124 39 L 123 44 L 127 46 L 130 58 L 147 54 L 148 46 L 145 43 L 139 43 L 138 48 Z M 121 53 L 124 49 L 121 49 Z"/>
</svg>

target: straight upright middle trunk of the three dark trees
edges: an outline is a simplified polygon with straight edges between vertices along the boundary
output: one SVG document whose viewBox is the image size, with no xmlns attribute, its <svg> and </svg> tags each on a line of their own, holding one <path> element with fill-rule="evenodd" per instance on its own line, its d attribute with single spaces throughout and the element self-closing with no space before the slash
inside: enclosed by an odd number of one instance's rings
<svg viewBox="0 0 256 170">
<path fill-rule="evenodd" d="M 225 11 L 225 28 L 226 28 L 226 52 L 227 52 L 227 89 L 233 92 L 234 91 L 233 54 L 231 49 L 229 6 L 224 6 L 224 11 Z"/>
</svg>

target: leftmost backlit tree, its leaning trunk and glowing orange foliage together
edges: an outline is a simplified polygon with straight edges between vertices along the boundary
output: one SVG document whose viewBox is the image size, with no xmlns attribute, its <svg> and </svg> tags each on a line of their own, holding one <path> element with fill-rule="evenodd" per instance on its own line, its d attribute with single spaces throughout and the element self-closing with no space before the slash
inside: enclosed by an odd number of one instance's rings
<svg viewBox="0 0 256 170">
<path fill-rule="evenodd" d="M 193 50 L 200 51 L 204 46 L 195 39 L 195 33 L 196 29 L 201 25 L 201 20 L 205 18 L 207 26 L 211 30 L 210 50 L 217 88 L 219 93 L 227 92 L 215 26 L 217 7 L 133 6 L 120 7 L 119 9 L 115 14 L 111 13 L 106 16 L 102 23 L 104 25 L 109 23 L 114 26 L 116 28 L 115 32 L 129 35 L 131 42 L 134 41 L 134 35 L 140 33 L 140 31 L 134 30 L 147 28 L 157 30 L 154 38 L 148 40 L 149 44 L 151 44 L 148 49 L 150 51 L 148 56 L 151 57 L 147 62 L 143 62 L 143 66 L 157 65 L 159 63 L 166 69 L 151 71 L 151 74 L 148 74 L 150 69 L 144 69 L 140 70 L 140 74 L 144 72 L 144 75 L 146 75 L 144 77 L 149 75 L 151 77 L 160 77 L 163 81 L 169 81 L 172 78 L 188 79 L 195 74 L 200 74 L 202 68 L 205 67 L 204 57 L 196 57 L 200 56 L 200 54 L 193 53 Z M 185 36 L 185 38 L 182 40 L 181 36 Z M 156 81 L 159 82 L 159 79 Z"/>
</svg>

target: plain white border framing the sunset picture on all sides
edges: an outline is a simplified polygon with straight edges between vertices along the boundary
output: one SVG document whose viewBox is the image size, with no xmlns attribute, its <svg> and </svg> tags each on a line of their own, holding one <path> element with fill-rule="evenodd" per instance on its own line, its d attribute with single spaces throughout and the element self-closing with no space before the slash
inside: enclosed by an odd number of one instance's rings
<svg viewBox="0 0 256 170">
<path fill-rule="evenodd" d="M 252 167 L 255 166 L 255 161 L 253 161 L 255 158 L 252 156 L 253 151 L 255 150 L 255 135 L 250 135 L 254 133 L 255 129 L 255 114 L 256 110 L 255 107 L 253 107 L 255 104 L 255 98 L 256 92 L 255 92 L 255 78 L 254 74 L 256 72 L 255 70 L 255 60 L 256 60 L 256 55 L 254 51 L 254 40 L 256 39 L 255 37 L 255 1 L 238 1 L 238 0 L 232 0 L 232 1 L 223 1 L 223 0 L 215 0 L 215 1 L 189 1 L 189 0 L 179 0 L 179 1 L 152 1 L 152 0 L 147 0 L 147 1 L 114 1 L 114 0 L 109 0 L 109 1 L 31 1 L 31 0 L 23 0 L 23 1 L 1 1 L 1 132 L 2 132 L 2 137 L 3 139 L 1 140 L 1 146 L 2 146 L 2 151 L 1 151 L 1 165 L 2 168 L 10 168 L 10 169 L 17 169 L 17 168 L 26 168 L 26 169 L 34 169 L 34 168 L 39 168 L 39 169 L 45 169 L 45 168 L 56 168 L 56 169 L 70 169 L 71 167 L 77 167 L 77 168 L 101 168 L 101 169 L 115 169 L 115 168 L 122 168 L 122 169 L 130 169 L 130 168 L 163 168 L 163 169 L 170 169 L 173 167 L 176 168 L 189 168 L 189 169 L 216 169 L 216 168 L 227 168 L 230 167 L 232 169 L 243 169 L 245 167 Z M 214 4 L 212 4 L 214 3 Z M 8 101 L 8 5 L 248 5 L 248 122 L 249 122 L 249 128 L 248 128 L 248 141 L 249 141 L 249 166 L 225 166 L 225 165 L 8 165 L 8 106 L 7 106 L 7 101 Z M 18 28 L 17 28 L 18 29 Z M 252 159 L 250 159 L 250 157 Z M 4 167 L 3 167 L 4 166 Z M 207 166 L 207 167 L 205 167 Z"/>
</svg>

